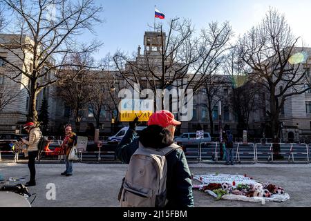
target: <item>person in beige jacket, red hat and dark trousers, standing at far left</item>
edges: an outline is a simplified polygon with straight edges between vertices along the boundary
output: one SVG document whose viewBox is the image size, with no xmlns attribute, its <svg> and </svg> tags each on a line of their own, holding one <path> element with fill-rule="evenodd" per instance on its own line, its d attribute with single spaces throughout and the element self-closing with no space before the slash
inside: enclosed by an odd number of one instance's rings
<svg viewBox="0 0 311 221">
<path fill-rule="evenodd" d="M 28 122 L 23 125 L 23 129 L 29 134 L 29 140 L 22 139 L 23 144 L 27 145 L 28 151 L 28 168 L 30 172 L 30 180 L 25 184 L 25 186 L 35 186 L 36 185 L 36 168 L 35 160 L 39 153 L 39 140 L 42 137 L 40 128 L 35 126 L 34 122 Z"/>
</svg>

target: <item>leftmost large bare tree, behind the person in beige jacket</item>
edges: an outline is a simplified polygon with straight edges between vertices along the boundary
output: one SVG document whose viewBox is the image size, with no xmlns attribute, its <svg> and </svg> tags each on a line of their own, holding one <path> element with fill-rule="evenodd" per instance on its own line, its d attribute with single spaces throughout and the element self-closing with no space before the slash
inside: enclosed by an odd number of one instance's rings
<svg viewBox="0 0 311 221">
<path fill-rule="evenodd" d="M 76 37 L 88 30 L 93 32 L 95 23 L 100 22 L 101 6 L 94 0 L 0 0 L 12 12 L 12 21 L 7 30 L 17 34 L 10 39 L 9 44 L 0 44 L 8 52 L 15 55 L 18 62 L 5 59 L 8 71 L 7 77 L 23 84 L 30 95 L 30 110 L 28 117 L 37 121 L 36 101 L 38 93 L 54 84 L 64 75 L 63 69 L 68 64 L 68 56 L 95 50 L 100 43 L 91 41 L 88 45 L 76 44 Z M 21 51 L 21 53 L 19 52 Z M 29 79 L 25 85 L 23 77 Z"/>
</svg>

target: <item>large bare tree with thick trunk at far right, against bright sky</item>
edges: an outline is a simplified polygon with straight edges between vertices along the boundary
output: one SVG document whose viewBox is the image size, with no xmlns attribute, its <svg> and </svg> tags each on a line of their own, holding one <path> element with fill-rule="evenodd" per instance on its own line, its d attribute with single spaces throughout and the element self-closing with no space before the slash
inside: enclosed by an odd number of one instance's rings
<svg viewBox="0 0 311 221">
<path fill-rule="evenodd" d="M 305 93 L 304 59 L 294 59 L 299 38 L 294 37 L 285 17 L 270 8 L 263 21 L 239 39 L 239 56 L 249 67 L 249 77 L 269 95 L 272 136 L 279 137 L 279 114 L 284 102 Z M 303 57 L 303 56 L 302 56 Z"/>
</svg>

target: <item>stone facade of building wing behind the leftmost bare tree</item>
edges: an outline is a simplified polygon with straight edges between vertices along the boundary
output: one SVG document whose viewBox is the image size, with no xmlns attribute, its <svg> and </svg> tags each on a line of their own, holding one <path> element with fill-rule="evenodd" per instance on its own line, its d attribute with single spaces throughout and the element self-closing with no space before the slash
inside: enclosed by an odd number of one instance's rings
<svg viewBox="0 0 311 221">
<path fill-rule="evenodd" d="M 32 52 L 28 50 L 15 49 L 12 51 L 8 50 L 6 47 L 14 46 L 15 44 L 23 44 L 25 42 L 30 42 L 30 38 L 21 35 L 6 35 L 0 34 L 0 44 L 3 44 L 5 47 L 0 46 L 0 59 L 4 57 L 6 60 L 12 62 L 23 71 L 30 71 L 30 58 L 32 56 Z M 18 56 L 18 57 L 17 57 Z M 19 59 L 19 57 L 23 58 L 23 61 Z M 18 132 L 21 129 L 21 125 L 26 121 L 26 115 L 28 114 L 28 110 L 30 108 L 29 95 L 28 91 L 25 87 L 28 87 L 29 81 L 28 77 L 21 74 L 15 81 L 12 81 L 7 76 L 17 75 L 17 68 L 12 68 L 10 66 L 6 66 L 6 64 L 2 63 L 0 66 L 0 77 L 3 77 L 3 81 L 1 81 L 2 85 L 10 88 L 12 93 L 17 94 L 16 99 L 8 104 L 3 111 L 0 112 L 0 132 Z M 26 69 L 27 67 L 27 69 Z M 44 79 L 39 81 L 40 84 L 44 82 Z M 1 85 L 0 85 L 1 86 Z M 53 99 L 50 98 L 50 92 L 47 88 L 46 91 L 41 91 L 37 97 L 37 110 L 39 110 L 41 106 L 41 100 L 43 96 L 46 95 L 48 99 L 49 112 L 53 117 L 53 113 L 55 113 L 54 109 L 55 105 L 53 105 Z M 54 118 L 53 118 L 54 119 Z M 52 122 L 53 122 L 52 119 Z M 53 123 L 51 124 L 53 125 Z"/>
</svg>

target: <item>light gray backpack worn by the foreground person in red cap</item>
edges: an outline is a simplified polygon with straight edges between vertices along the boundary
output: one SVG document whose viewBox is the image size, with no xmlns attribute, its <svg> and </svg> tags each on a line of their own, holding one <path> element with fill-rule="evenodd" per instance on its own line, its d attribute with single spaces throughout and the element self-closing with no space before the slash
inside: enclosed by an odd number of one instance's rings
<svg viewBox="0 0 311 221">
<path fill-rule="evenodd" d="M 121 207 L 164 207 L 167 198 L 166 155 L 180 148 L 146 148 L 140 144 L 132 155 L 119 194 Z"/>
</svg>

